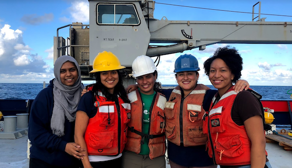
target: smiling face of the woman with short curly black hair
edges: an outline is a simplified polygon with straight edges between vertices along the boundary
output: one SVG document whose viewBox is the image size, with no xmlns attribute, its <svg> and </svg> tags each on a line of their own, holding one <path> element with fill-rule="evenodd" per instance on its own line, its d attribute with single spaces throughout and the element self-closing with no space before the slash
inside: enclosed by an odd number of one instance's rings
<svg viewBox="0 0 292 168">
<path fill-rule="evenodd" d="M 211 63 L 209 80 L 218 89 L 220 96 L 233 85 L 233 79 L 234 75 L 222 59 L 217 58 Z"/>
</svg>

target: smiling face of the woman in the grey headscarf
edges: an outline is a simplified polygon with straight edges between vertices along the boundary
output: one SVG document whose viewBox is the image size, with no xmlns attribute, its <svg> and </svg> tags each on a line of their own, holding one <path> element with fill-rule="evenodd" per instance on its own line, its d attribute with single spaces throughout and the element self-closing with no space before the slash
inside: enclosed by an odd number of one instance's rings
<svg viewBox="0 0 292 168">
<path fill-rule="evenodd" d="M 78 70 L 73 62 L 65 62 L 60 69 L 60 79 L 62 84 L 72 86 L 78 79 Z"/>
</svg>

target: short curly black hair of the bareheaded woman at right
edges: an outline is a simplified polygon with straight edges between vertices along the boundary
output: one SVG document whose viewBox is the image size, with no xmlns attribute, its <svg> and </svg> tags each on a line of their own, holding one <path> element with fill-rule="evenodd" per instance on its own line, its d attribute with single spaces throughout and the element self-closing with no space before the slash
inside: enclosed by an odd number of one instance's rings
<svg viewBox="0 0 292 168">
<path fill-rule="evenodd" d="M 217 58 L 223 60 L 225 64 L 229 67 L 231 73 L 234 75 L 234 79 L 232 80 L 232 82 L 235 83 L 241 77 L 242 70 L 242 58 L 238 53 L 238 50 L 235 47 L 231 46 L 218 48 L 214 52 L 214 55 L 204 62 L 205 74 L 207 76 L 209 76 L 210 66 L 212 62 Z"/>
</svg>

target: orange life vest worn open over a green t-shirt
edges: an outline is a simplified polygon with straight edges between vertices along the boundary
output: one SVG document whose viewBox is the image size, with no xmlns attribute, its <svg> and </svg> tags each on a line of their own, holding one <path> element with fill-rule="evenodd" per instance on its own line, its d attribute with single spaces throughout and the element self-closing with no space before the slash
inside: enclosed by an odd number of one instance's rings
<svg viewBox="0 0 292 168">
<path fill-rule="evenodd" d="M 157 92 L 154 96 L 154 103 L 149 112 L 149 134 L 143 134 L 143 104 L 138 89 L 128 93 L 128 99 L 131 101 L 131 120 L 128 123 L 128 142 L 125 150 L 133 151 L 137 154 L 141 151 L 141 144 L 148 138 L 149 158 L 153 159 L 165 154 L 165 129 L 164 129 L 164 106 L 166 98 Z"/>
</svg>

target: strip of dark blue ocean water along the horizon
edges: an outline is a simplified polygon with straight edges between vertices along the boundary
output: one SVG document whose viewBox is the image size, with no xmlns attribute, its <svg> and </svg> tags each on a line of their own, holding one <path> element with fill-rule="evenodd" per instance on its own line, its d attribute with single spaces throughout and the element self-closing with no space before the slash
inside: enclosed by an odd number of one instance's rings
<svg viewBox="0 0 292 168">
<path fill-rule="evenodd" d="M 48 84 L 46 84 L 48 86 Z M 176 85 L 164 84 L 162 86 L 174 87 Z M 215 89 L 213 85 L 207 85 Z M 262 95 L 262 100 L 285 100 L 292 101 L 292 86 L 251 86 Z M 43 89 L 43 84 L 4 84 L 0 83 L 0 99 L 35 99 L 39 91 Z M 287 91 L 291 90 L 287 94 Z"/>
</svg>

